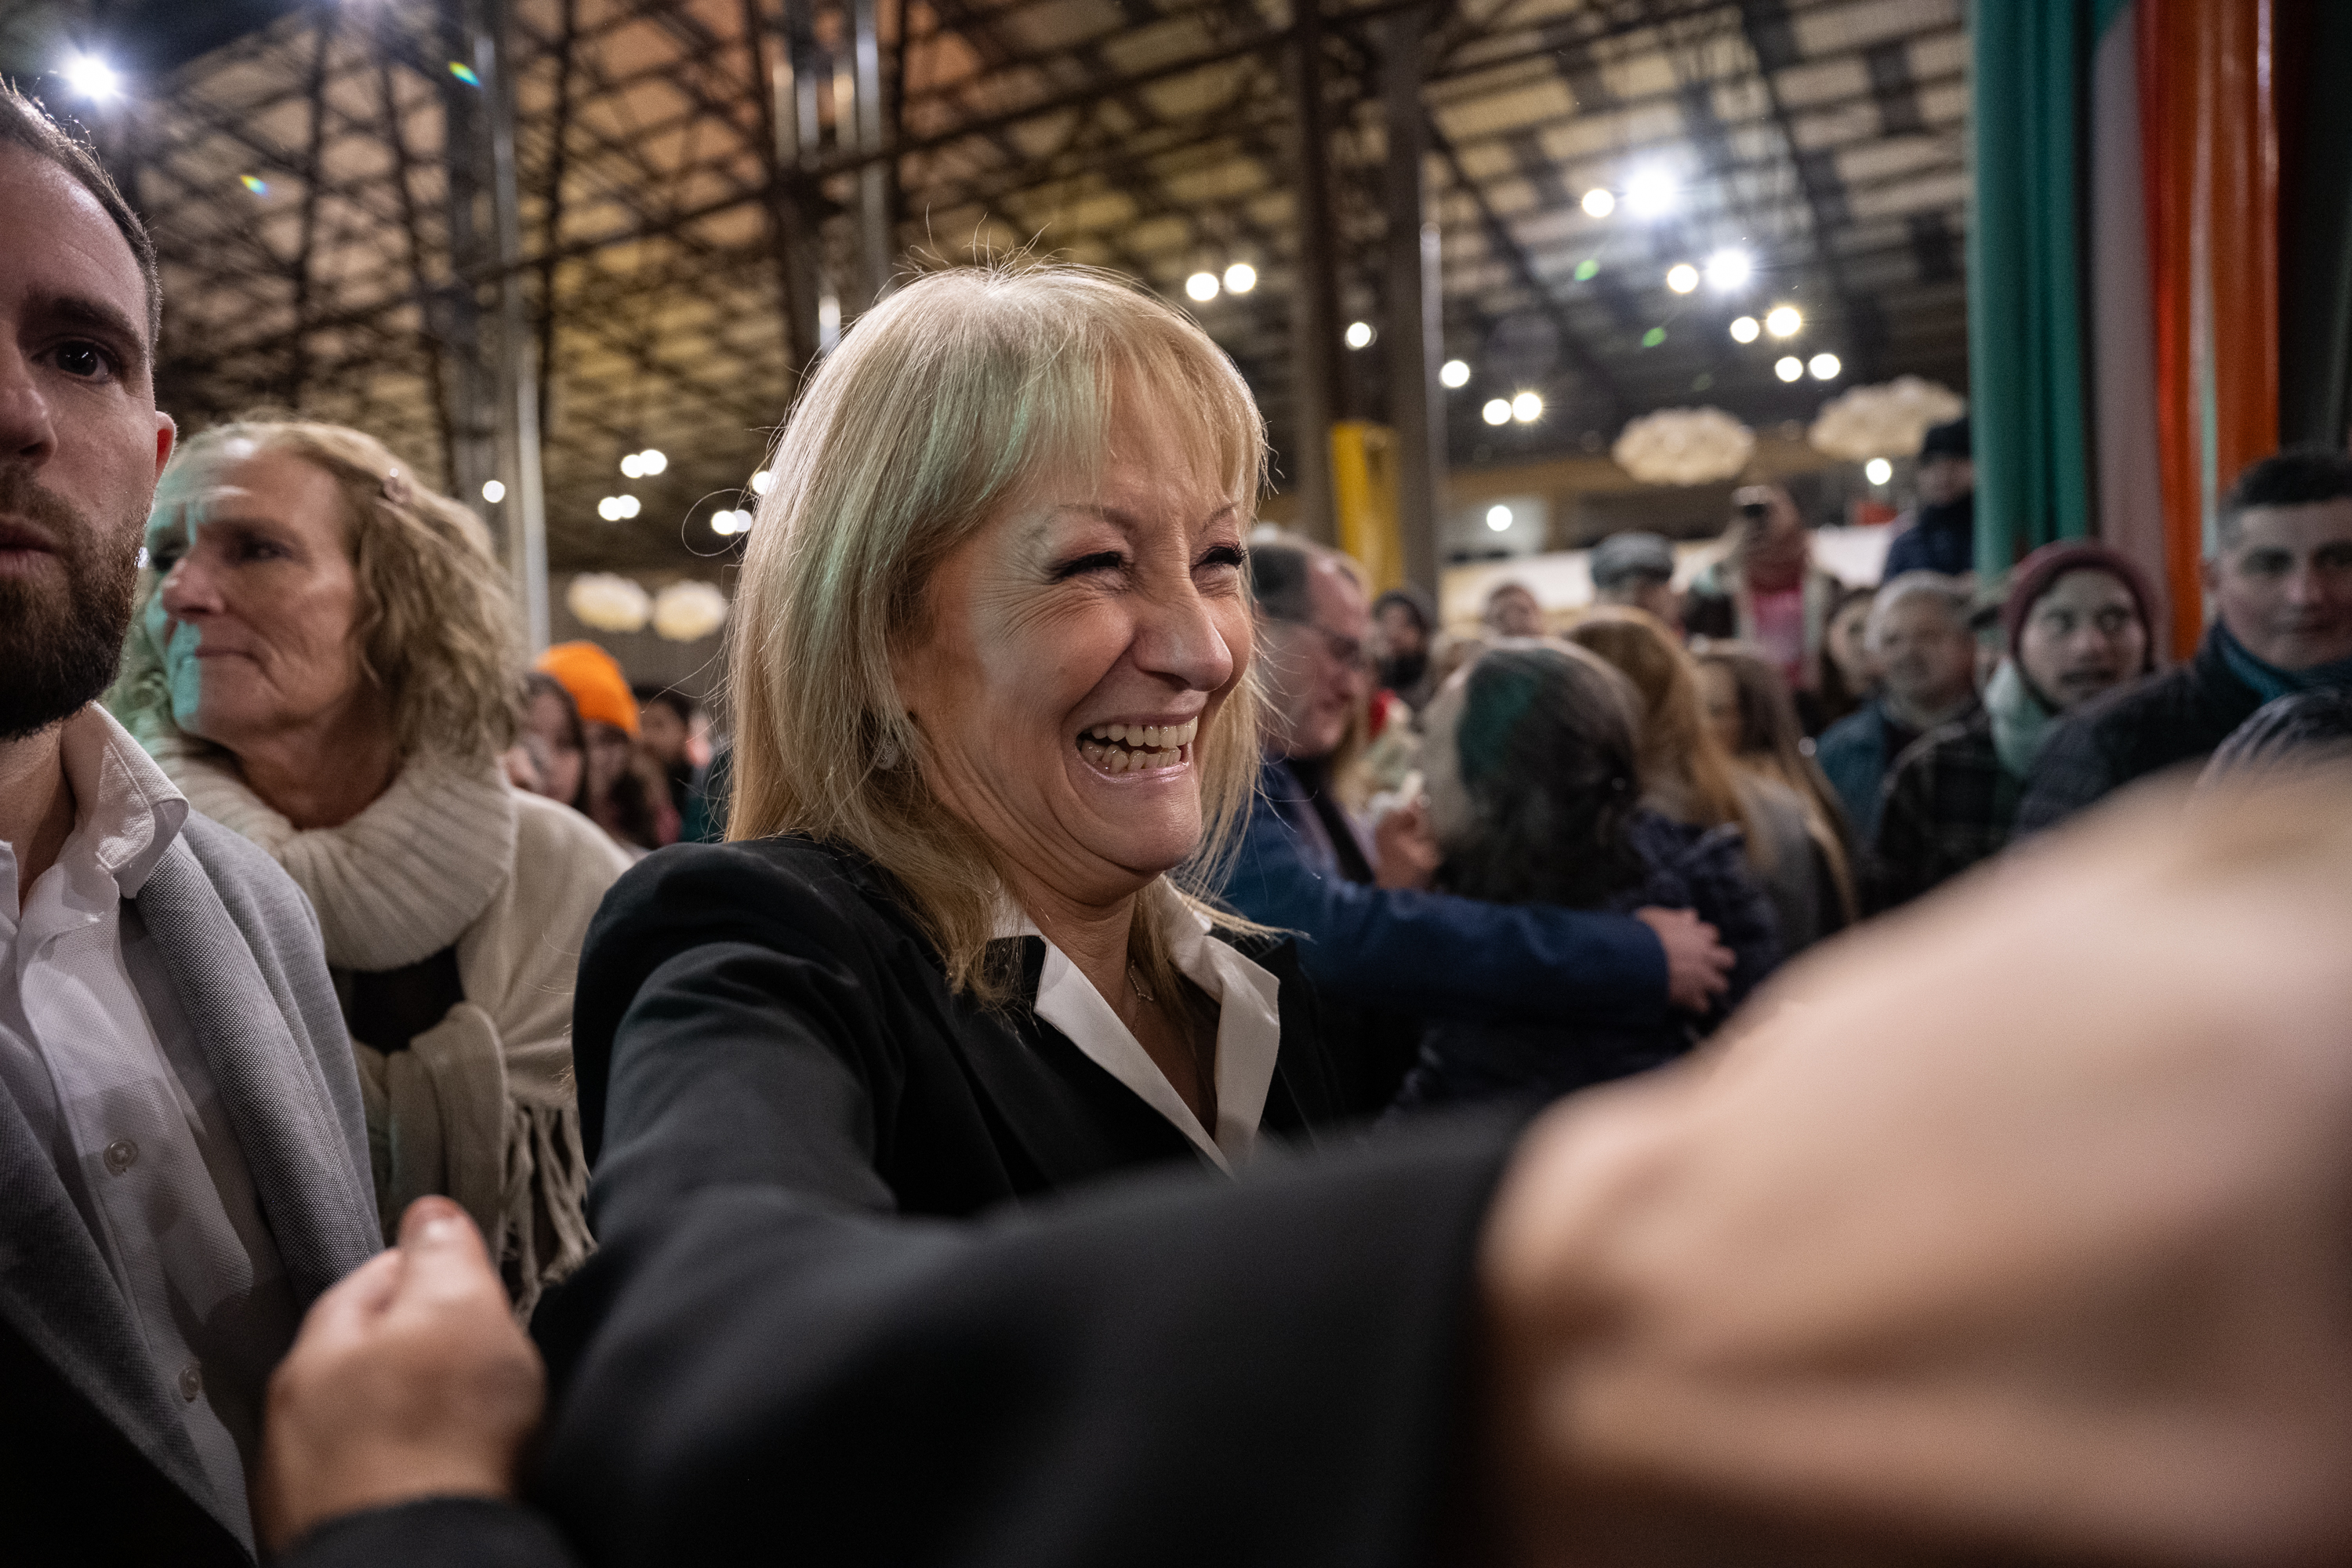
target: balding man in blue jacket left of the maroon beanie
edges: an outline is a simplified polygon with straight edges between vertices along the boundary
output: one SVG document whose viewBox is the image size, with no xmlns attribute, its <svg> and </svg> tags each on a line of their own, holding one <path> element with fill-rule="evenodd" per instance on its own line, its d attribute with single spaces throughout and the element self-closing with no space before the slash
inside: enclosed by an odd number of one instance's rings
<svg viewBox="0 0 2352 1568">
<path fill-rule="evenodd" d="M 1976 635 L 1969 585 L 1940 571 L 1907 571 L 1870 604 L 1863 639 L 1886 670 L 1879 693 L 1832 724 L 1813 752 L 1846 802 L 1853 839 L 1879 835 L 1879 792 L 1903 750 L 1976 708 Z"/>
</svg>

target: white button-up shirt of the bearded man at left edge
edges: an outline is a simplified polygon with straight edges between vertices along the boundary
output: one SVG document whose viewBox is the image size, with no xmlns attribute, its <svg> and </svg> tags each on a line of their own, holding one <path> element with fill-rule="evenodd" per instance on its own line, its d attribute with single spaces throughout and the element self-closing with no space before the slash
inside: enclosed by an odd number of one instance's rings
<svg viewBox="0 0 2352 1568">
<path fill-rule="evenodd" d="M 106 1258 L 223 1519 L 252 1544 L 240 1448 L 259 1439 L 294 1298 L 165 959 L 129 903 L 179 839 L 188 802 L 96 703 L 66 719 L 64 762 L 73 832 L 31 898 L 0 842 L 0 1081 Z"/>
</svg>

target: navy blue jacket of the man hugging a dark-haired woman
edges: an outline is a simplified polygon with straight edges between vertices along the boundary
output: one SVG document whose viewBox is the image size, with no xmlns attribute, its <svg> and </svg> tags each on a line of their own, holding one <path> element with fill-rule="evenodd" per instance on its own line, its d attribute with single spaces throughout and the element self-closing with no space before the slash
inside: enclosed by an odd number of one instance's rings
<svg viewBox="0 0 2352 1568">
<path fill-rule="evenodd" d="M 1282 762 L 1258 776 L 1225 898 L 1296 931 L 1298 961 L 1327 997 L 1421 1018 L 1656 1025 L 1665 950 L 1621 914 L 1494 905 L 1350 882 L 1331 832 Z"/>
</svg>

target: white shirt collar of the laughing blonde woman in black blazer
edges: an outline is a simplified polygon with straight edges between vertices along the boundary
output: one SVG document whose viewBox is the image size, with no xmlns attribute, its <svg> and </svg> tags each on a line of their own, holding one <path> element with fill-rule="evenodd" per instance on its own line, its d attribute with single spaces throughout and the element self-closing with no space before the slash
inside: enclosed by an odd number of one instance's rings
<svg viewBox="0 0 2352 1568">
<path fill-rule="evenodd" d="M 1282 1048 L 1279 980 L 1251 964 L 1230 945 L 1209 936 L 1209 917 L 1176 896 L 1167 877 L 1152 882 L 1143 898 L 1167 922 L 1169 957 L 1176 971 L 1216 1004 L 1216 1135 L 1200 1124 L 1176 1086 L 1143 1048 L 1103 992 L 1094 990 L 1077 964 L 1047 940 L 1028 914 L 1007 903 L 997 914 L 997 936 L 1035 936 L 1044 943 L 1044 971 L 1037 976 L 1035 1013 L 1061 1030 L 1103 1072 L 1127 1084 L 1145 1105 L 1169 1119 L 1192 1140 L 1218 1171 L 1232 1173 L 1258 1150 L 1258 1121 L 1265 1117 L 1265 1091 L 1275 1081 L 1275 1056 Z"/>
</svg>

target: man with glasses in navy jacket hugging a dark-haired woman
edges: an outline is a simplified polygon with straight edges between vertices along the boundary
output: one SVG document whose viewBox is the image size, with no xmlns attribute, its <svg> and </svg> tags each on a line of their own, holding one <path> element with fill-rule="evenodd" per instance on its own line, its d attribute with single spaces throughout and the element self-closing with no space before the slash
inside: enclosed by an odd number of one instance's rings
<svg viewBox="0 0 2352 1568">
<path fill-rule="evenodd" d="M 1348 1009 L 1357 1034 L 1371 1025 L 1364 1110 L 1402 1081 L 1418 1018 L 1656 1020 L 1724 990 L 1731 954 L 1689 910 L 1623 917 L 1383 886 L 1378 846 L 1331 788 L 1369 691 L 1364 588 L 1343 555 L 1294 543 L 1254 545 L 1249 576 L 1268 684 L 1263 799 L 1225 898 L 1298 931 L 1327 1011 Z"/>
</svg>

